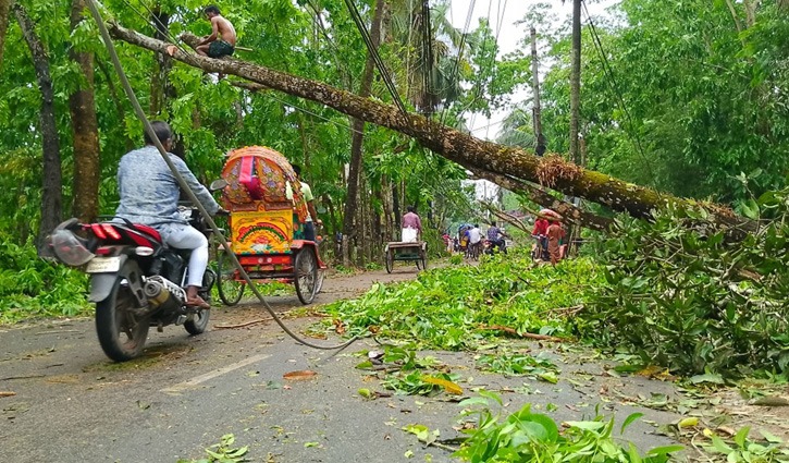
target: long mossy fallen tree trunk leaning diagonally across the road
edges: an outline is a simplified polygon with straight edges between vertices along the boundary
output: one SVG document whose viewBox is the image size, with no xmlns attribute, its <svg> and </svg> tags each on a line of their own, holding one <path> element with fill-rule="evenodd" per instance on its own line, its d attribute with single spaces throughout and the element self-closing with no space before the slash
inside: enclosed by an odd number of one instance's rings
<svg viewBox="0 0 789 463">
<path fill-rule="evenodd" d="M 558 156 L 540 158 L 520 148 L 485 142 L 422 115 L 406 113 L 393 106 L 370 98 L 361 98 L 318 81 L 298 77 L 233 58 L 200 57 L 118 24 L 110 24 L 109 27 L 116 39 L 159 53 L 168 53 L 185 64 L 208 72 L 236 75 L 271 89 L 320 102 L 344 114 L 409 135 L 418 139 L 424 147 L 467 169 L 478 169 L 502 175 L 511 174 L 518 179 L 539 183 L 567 195 L 583 197 L 638 218 L 650 218 L 653 209 L 670 205 L 678 208 L 701 207 L 708 212 L 714 222 L 720 226 L 742 224 L 742 220 L 730 209 L 719 205 L 681 199 L 624 182 L 600 172 L 583 169 Z M 199 40 L 192 34 L 183 35 L 182 39 L 193 47 Z"/>
</svg>

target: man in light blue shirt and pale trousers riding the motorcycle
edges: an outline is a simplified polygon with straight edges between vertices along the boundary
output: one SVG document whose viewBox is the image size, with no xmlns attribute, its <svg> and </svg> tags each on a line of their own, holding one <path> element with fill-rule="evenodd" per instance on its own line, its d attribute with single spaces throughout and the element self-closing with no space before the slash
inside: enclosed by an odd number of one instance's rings
<svg viewBox="0 0 789 463">
<path fill-rule="evenodd" d="M 197 181 L 186 162 L 170 153 L 173 145 L 170 125 L 163 121 L 152 121 L 151 127 L 189 190 L 195 193 L 208 214 L 215 215 L 220 207 L 211 193 Z M 209 304 L 197 294 L 208 267 L 208 239 L 178 214 L 181 193 L 178 182 L 147 132 L 145 147 L 130 151 L 121 158 L 118 167 L 118 188 L 121 204 L 115 210 L 116 217 L 152 227 L 169 246 L 192 249 L 186 283 L 186 305 L 210 308 Z"/>
</svg>

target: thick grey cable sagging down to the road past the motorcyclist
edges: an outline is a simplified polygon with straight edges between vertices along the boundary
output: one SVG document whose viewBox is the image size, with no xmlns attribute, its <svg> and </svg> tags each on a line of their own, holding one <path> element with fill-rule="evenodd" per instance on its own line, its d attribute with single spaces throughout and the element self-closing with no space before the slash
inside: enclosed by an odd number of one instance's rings
<svg viewBox="0 0 789 463">
<path fill-rule="evenodd" d="M 128 78 L 126 77 L 125 72 L 123 71 L 123 66 L 121 64 L 121 60 L 118 58 L 118 52 L 115 51 L 115 47 L 113 45 L 112 38 L 110 37 L 110 33 L 107 31 L 107 26 L 104 25 L 104 22 L 101 17 L 101 13 L 99 12 L 98 5 L 96 4 L 96 0 L 87 0 L 86 1 L 88 9 L 90 10 L 90 14 L 94 16 L 94 21 L 96 21 L 96 24 L 99 28 L 99 33 L 101 34 L 101 38 L 104 41 L 104 46 L 107 47 L 107 51 L 110 54 L 110 59 L 112 60 L 112 64 L 115 68 L 115 71 L 118 72 L 119 78 L 121 80 L 121 84 L 123 86 L 124 92 L 126 93 L 126 96 L 130 99 L 130 102 L 132 103 L 132 107 L 134 108 L 134 111 L 139 118 L 140 122 L 143 122 L 143 127 L 145 129 L 146 133 L 149 135 L 150 139 L 153 141 L 153 145 L 159 150 L 159 154 L 161 155 L 164 162 L 168 165 L 170 170 L 172 171 L 173 175 L 175 176 L 175 180 L 178 182 L 178 185 L 181 186 L 181 190 L 186 194 L 186 196 L 189 198 L 189 202 L 200 211 L 200 215 L 205 218 L 205 220 L 208 222 L 208 224 L 211 227 L 211 230 L 213 233 L 215 233 L 217 236 L 221 240 L 220 242 L 226 242 L 224 235 L 222 234 L 222 231 L 217 227 L 217 223 L 213 221 L 211 216 L 208 214 L 206 208 L 202 206 L 202 204 L 197 199 L 197 196 L 195 193 L 192 192 L 192 190 L 188 187 L 186 182 L 184 181 L 181 173 L 177 171 L 175 166 L 173 165 L 173 161 L 168 156 L 167 150 L 162 146 L 161 142 L 159 142 L 159 138 L 156 136 L 156 133 L 153 132 L 153 127 L 151 127 L 150 122 L 148 121 L 148 118 L 145 115 L 145 111 L 143 110 L 143 107 L 139 105 L 139 100 L 137 99 L 137 96 L 134 93 L 134 89 L 132 88 L 132 85 L 128 82 Z M 258 297 L 260 302 L 263 303 L 263 306 L 269 312 L 269 314 L 272 316 L 274 321 L 282 328 L 283 331 L 285 331 L 291 338 L 296 340 L 297 342 L 319 350 L 325 350 L 325 351 L 334 351 L 340 349 L 345 349 L 352 343 L 356 342 L 359 337 L 354 337 L 349 339 L 348 341 L 338 344 L 338 345 L 331 345 L 331 346 L 324 346 L 319 344 L 313 344 L 303 338 L 300 338 L 298 334 L 293 332 L 282 321 L 282 319 L 276 315 L 273 308 L 269 305 L 269 303 L 266 301 L 263 295 L 260 293 L 260 291 L 257 288 L 257 284 L 249 278 L 249 275 L 244 270 L 244 268 L 238 263 L 238 258 L 235 256 L 234 253 L 230 252 L 230 248 L 227 246 L 224 246 L 224 252 L 230 257 L 231 261 L 235 265 L 236 269 L 238 269 L 242 277 L 244 277 L 244 280 L 249 285 L 249 289 L 255 293 L 255 295 Z"/>
</svg>

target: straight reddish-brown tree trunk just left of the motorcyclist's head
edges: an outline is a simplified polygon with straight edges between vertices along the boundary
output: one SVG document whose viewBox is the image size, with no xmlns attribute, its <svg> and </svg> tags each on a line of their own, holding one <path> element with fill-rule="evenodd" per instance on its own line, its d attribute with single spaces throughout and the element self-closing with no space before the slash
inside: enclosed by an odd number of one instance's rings
<svg viewBox="0 0 789 463">
<path fill-rule="evenodd" d="M 74 0 L 71 10 L 71 28 L 76 29 L 85 20 L 85 0 Z M 72 215 L 84 222 L 93 222 L 99 214 L 100 148 L 99 124 L 96 117 L 94 54 L 69 51 L 77 63 L 85 81 L 69 97 L 74 146 L 74 202 Z"/>
</svg>

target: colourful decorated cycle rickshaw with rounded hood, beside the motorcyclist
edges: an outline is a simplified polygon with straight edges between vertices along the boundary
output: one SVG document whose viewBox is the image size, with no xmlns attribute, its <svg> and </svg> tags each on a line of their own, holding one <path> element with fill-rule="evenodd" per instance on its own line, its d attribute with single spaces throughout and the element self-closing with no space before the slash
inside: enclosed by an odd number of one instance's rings
<svg viewBox="0 0 789 463">
<path fill-rule="evenodd" d="M 261 146 L 232 150 L 222 169 L 227 185 L 222 206 L 230 211 L 230 247 L 252 280 L 293 283 L 303 304 L 310 304 L 323 284 L 326 266 L 318 245 L 304 239 L 309 215 L 301 184 L 280 153 Z M 244 280 L 231 260 L 219 254 L 223 302 L 237 303 Z M 230 281 L 229 281 L 230 280 Z M 222 293 L 235 282 L 239 290 L 225 301 Z"/>
</svg>

